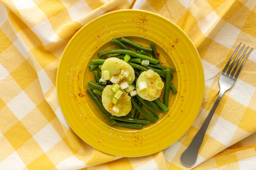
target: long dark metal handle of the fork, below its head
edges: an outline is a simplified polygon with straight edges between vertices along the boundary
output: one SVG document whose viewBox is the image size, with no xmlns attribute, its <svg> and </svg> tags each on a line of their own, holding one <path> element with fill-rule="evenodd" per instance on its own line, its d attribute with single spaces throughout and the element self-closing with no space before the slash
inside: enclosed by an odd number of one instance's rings
<svg viewBox="0 0 256 170">
<path fill-rule="evenodd" d="M 204 123 L 202 124 L 202 127 L 198 130 L 197 134 L 191 141 L 191 144 L 189 145 L 189 147 L 181 155 L 180 161 L 184 166 L 190 167 L 195 164 L 195 161 L 196 161 L 197 155 L 198 155 L 198 150 L 199 150 L 199 148 L 202 144 L 202 141 L 204 139 L 204 134 L 208 128 L 208 125 L 211 121 L 213 113 L 215 112 L 223 94 L 224 94 L 224 92 L 220 91 L 218 98 L 217 98 L 216 102 L 214 103 L 213 107 L 211 108 L 209 115 L 207 116 Z"/>
</svg>

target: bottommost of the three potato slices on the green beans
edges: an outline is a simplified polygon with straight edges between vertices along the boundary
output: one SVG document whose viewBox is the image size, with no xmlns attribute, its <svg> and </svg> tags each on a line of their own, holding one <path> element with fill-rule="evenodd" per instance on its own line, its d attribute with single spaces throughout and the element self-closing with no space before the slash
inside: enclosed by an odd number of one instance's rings
<svg viewBox="0 0 256 170">
<path fill-rule="evenodd" d="M 117 100 L 117 103 L 112 102 L 115 92 L 112 90 L 114 85 L 107 85 L 102 91 L 101 102 L 103 107 L 114 116 L 125 116 L 132 109 L 130 96 L 125 91 L 121 90 L 123 94 Z"/>
</svg>

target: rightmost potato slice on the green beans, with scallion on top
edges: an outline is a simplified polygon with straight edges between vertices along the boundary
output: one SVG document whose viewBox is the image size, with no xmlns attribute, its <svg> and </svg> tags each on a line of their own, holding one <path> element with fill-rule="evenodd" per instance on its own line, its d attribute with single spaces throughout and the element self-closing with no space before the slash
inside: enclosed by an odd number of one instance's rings
<svg viewBox="0 0 256 170">
<path fill-rule="evenodd" d="M 164 82 L 161 77 L 151 69 L 142 72 L 136 82 L 137 95 L 148 101 L 157 99 L 163 88 Z"/>
</svg>

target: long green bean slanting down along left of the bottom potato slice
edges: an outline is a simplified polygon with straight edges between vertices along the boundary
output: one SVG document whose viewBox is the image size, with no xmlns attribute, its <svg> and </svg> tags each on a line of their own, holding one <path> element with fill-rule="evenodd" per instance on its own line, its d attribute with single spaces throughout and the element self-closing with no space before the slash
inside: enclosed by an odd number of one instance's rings
<svg viewBox="0 0 256 170">
<path fill-rule="evenodd" d="M 103 115 L 106 117 L 106 119 L 108 119 L 109 123 L 111 125 L 115 124 L 116 121 L 114 119 L 111 119 L 110 117 L 110 113 L 108 113 L 108 111 L 103 107 L 101 101 L 99 100 L 99 98 L 92 92 L 92 90 L 90 88 L 86 89 L 86 92 L 89 94 L 89 96 L 92 98 L 92 100 L 95 102 L 95 104 L 98 106 L 99 110 L 101 110 L 101 113 L 103 113 Z"/>
</svg>

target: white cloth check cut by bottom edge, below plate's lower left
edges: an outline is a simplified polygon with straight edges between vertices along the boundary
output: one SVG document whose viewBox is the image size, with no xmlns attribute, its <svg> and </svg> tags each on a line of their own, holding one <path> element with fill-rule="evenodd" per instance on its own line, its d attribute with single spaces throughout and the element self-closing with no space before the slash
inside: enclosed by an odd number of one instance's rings
<svg viewBox="0 0 256 170">
<path fill-rule="evenodd" d="M 75 156 L 69 157 L 56 166 L 58 170 L 80 170 L 85 168 L 85 163 L 83 161 L 77 159 Z"/>
</svg>

